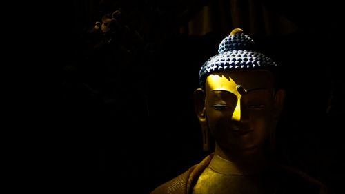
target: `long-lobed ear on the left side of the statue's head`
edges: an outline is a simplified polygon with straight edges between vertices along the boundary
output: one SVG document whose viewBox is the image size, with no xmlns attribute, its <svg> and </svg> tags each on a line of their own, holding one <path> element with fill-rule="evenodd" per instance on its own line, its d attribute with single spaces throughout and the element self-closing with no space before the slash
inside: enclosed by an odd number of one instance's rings
<svg viewBox="0 0 345 194">
<path fill-rule="evenodd" d="M 209 151 L 210 137 L 206 116 L 205 93 L 201 88 L 194 91 L 194 107 L 201 126 L 203 149 L 204 151 Z"/>
</svg>

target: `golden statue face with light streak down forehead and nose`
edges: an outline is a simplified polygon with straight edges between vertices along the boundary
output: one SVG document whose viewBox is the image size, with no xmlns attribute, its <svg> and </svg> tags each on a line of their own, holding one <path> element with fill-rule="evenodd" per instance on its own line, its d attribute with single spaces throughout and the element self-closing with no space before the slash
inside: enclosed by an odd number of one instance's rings
<svg viewBox="0 0 345 194">
<path fill-rule="evenodd" d="M 274 130 L 273 75 L 266 70 L 219 72 L 206 79 L 208 128 L 225 150 L 262 146 Z"/>
</svg>

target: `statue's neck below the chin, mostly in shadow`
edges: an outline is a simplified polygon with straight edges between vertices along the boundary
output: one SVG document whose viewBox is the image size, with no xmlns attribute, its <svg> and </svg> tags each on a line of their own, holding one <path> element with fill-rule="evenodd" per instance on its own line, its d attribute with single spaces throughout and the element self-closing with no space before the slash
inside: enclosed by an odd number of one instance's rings
<svg viewBox="0 0 345 194">
<path fill-rule="evenodd" d="M 224 166 L 222 168 L 225 171 L 226 168 L 230 168 L 231 171 L 240 174 L 258 174 L 268 166 L 268 159 L 262 148 L 254 148 L 248 151 L 224 151 L 216 144 L 215 157 L 224 159 L 221 166 Z"/>
</svg>

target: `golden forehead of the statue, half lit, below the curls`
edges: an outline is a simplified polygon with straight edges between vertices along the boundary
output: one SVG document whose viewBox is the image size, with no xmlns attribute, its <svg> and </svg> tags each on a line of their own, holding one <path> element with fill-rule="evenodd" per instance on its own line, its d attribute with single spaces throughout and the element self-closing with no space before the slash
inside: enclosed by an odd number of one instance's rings
<svg viewBox="0 0 345 194">
<path fill-rule="evenodd" d="M 245 90 L 273 88 L 273 75 L 267 70 L 241 70 L 235 72 L 216 72 L 206 78 L 206 92 L 226 90 L 231 93 L 241 85 Z"/>
</svg>

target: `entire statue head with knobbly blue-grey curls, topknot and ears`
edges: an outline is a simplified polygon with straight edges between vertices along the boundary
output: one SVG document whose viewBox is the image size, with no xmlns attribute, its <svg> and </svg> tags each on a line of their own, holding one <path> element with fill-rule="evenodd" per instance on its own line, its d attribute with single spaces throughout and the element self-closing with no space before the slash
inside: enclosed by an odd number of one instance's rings
<svg viewBox="0 0 345 194">
<path fill-rule="evenodd" d="M 255 50 L 255 42 L 236 28 L 219 44 L 199 72 L 195 111 L 208 150 L 212 135 L 224 152 L 274 146 L 275 126 L 284 103 L 276 87 L 275 61 Z"/>
</svg>

